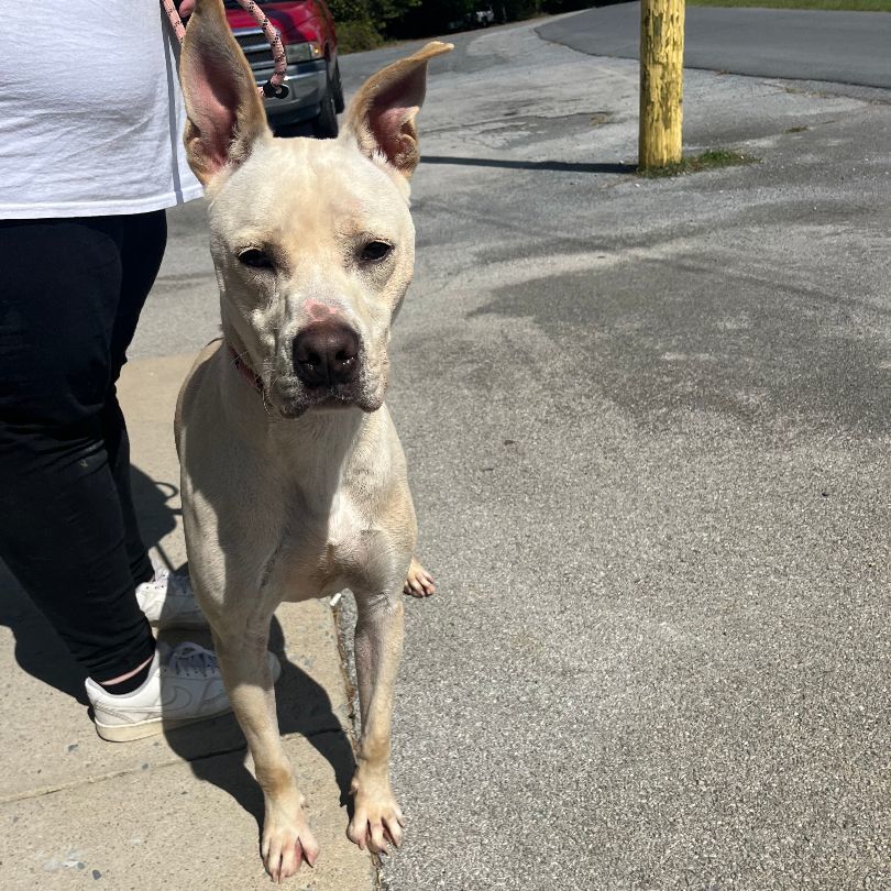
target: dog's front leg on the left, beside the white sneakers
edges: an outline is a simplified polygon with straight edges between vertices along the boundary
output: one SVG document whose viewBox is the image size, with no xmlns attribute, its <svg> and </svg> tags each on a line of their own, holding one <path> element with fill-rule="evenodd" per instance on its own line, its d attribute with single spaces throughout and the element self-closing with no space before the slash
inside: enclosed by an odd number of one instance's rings
<svg viewBox="0 0 891 891">
<path fill-rule="evenodd" d="M 304 796 L 294 781 L 278 733 L 275 689 L 266 660 L 268 636 L 268 620 L 264 620 L 262 630 L 227 635 L 213 631 L 232 711 L 248 739 L 263 790 L 263 864 L 273 881 L 278 882 L 297 872 L 304 857 L 311 866 L 319 846 L 304 816 Z"/>
</svg>

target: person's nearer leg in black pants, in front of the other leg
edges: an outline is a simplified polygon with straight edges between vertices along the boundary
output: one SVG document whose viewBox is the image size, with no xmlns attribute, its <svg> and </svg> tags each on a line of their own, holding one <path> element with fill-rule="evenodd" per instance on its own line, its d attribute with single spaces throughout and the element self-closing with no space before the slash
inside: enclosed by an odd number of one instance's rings
<svg viewBox="0 0 891 891">
<path fill-rule="evenodd" d="M 154 652 L 106 444 L 121 246 L 114 220 L 0 223 L 0 557 L 98 681 Z"/>
</svg>

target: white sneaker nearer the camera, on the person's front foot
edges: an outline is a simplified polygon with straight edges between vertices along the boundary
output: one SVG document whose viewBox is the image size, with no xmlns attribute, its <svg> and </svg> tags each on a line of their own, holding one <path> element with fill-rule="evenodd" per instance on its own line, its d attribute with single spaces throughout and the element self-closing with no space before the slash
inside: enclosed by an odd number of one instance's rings
<svg viewBox="0 0 891 891">
<path fill-rule="evenodd" d="M 266 658 L 275 682 L 282 666 L 273 653 Z M 85 686 L 96 732 L 111 743 L 142 739 L 232 710 L 216 654 L 197 644 L 172 650 L 158 641 L 148 678 L 132 693 L 113 696 L 90 678 Z"/>
</svg>

